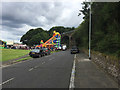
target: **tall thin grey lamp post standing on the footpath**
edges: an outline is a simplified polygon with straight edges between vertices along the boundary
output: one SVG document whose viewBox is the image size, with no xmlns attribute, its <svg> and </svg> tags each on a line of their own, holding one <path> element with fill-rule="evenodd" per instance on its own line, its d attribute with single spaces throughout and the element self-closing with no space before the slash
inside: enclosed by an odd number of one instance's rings
<svg viewBox="0 0 120 90">
<path fill-rule="evenodd" d="M 91 4 L 92 4 L 92 0 L 90 1 L 90 16 L 89 16 L 89 59 L 91 59 L 91 20 L 92 20 L 92 12 L 91 12 Z"/>
</svg>

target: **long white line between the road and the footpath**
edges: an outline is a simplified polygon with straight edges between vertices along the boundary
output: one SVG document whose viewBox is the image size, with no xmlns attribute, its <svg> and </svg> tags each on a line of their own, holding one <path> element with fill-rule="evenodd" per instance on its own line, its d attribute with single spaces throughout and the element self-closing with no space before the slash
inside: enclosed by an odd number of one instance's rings
<svg viewBox="0 0 120 90">
<path fill-rule="evenodd" d="M 70 85 L 69 85 L 70 90 L 75 88 L 75 85 L 74 85 L 74 80 L 75 80 L 75 60 L 76 60 L 76 54 L 74 56 L 73 68 L 72 68 L 72 72 L 71 72 Z"/>
</svg>

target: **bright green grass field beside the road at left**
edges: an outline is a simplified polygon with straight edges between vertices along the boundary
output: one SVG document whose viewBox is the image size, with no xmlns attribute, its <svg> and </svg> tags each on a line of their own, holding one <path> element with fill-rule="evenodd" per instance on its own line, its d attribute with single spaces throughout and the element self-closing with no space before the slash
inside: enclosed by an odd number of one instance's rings
<svg viewBox="0 0 120 90">
<path fill-rule="evenodd" d="M 8 60 L 16 59 L 24 55 L 27 55 L 29 52 L 30 50 L 1 49 L 0 54 L 2 55 L 2 60 L 0 59 L 0 61 L 8 61 Z"/>
</svg>

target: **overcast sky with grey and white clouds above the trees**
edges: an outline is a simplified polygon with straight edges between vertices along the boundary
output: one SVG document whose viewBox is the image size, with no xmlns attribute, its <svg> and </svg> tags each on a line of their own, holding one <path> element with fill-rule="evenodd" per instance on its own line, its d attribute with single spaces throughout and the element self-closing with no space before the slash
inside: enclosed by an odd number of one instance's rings
<svg viewBox="0 0 120 90">
<path fill-rule="evenodd" d="M 83 21 L 79 2 L 2 2 L 2 40 L 19 42 L 28 30 L 53 26 L 77 27 Z"/>
</svg>

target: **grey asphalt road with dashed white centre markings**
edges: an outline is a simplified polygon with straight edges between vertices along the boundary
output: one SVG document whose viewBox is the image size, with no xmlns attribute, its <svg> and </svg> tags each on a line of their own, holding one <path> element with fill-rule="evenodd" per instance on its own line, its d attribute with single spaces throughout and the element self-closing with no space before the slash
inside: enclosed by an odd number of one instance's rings
<svg viewBox="0 0 120 90">
<path fill-rule="evenodd" d="M 2 69 L 3 88 L 69 88 L 74 55 L 69 51 L 34 58 Z"/>
</svg>

